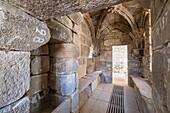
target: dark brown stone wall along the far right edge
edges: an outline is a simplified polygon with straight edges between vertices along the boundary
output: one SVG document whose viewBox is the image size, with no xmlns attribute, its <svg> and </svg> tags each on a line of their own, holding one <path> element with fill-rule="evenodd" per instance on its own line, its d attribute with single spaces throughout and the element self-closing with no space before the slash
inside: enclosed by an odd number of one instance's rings
<svg viewBox="0 0 170 113">
<path fill-rule="evenodd" d="M 152 39 L 153 39 L 153 100 L 155 113 L 170 112 L 170 1 L 153 0 Z"/>
</svg>

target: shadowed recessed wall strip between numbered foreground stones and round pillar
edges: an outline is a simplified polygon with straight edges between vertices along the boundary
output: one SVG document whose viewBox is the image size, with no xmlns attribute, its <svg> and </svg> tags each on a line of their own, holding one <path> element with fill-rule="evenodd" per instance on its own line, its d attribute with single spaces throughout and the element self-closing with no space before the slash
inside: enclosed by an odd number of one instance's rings
<svg viewBox="0 0 170 113">
<path fill-rule="evenodd" d="M 48 94 L 49 62 L 48 44 L 31 51 L 31 80 L 28 92 L 32 104 L 31 110 L 35 107 L 34 104 Z"/>
</svg>

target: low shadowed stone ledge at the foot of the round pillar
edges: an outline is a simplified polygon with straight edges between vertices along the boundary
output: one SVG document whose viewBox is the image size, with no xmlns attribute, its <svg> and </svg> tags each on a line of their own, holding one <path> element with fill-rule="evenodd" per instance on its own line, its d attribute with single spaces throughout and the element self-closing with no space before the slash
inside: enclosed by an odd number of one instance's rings
<svg viewBox="0 0 170 113">
<path fill-rule="evenodd" d="M 48 94 L 31 104 L 30 113 L 70 113 L 70 98 Z"/>
</svg>

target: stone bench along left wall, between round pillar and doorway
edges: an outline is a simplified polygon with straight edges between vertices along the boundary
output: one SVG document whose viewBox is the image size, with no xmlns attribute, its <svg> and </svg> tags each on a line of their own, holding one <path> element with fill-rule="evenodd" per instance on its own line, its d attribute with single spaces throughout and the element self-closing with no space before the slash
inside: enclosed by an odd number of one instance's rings
<svg viewBox="0 0 170 113">
<path fill-rule="evenodd" d="M 100 84 L 101 71 L 96 71 L 79 79 L 79 107 L 90 97 L 94 89 Z"/>
</svg>

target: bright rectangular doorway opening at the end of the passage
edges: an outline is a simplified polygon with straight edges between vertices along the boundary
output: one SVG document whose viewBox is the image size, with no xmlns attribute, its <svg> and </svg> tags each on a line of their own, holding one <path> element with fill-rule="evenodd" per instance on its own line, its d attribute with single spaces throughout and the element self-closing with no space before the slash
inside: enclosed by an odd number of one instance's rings
<svg viewBox="0 0 170 113">
<path fill-rule="evenodd" d="M 112 46 L 112 82 L 126 85 L 128 79 L 128 46 Z"/>
</svg>

